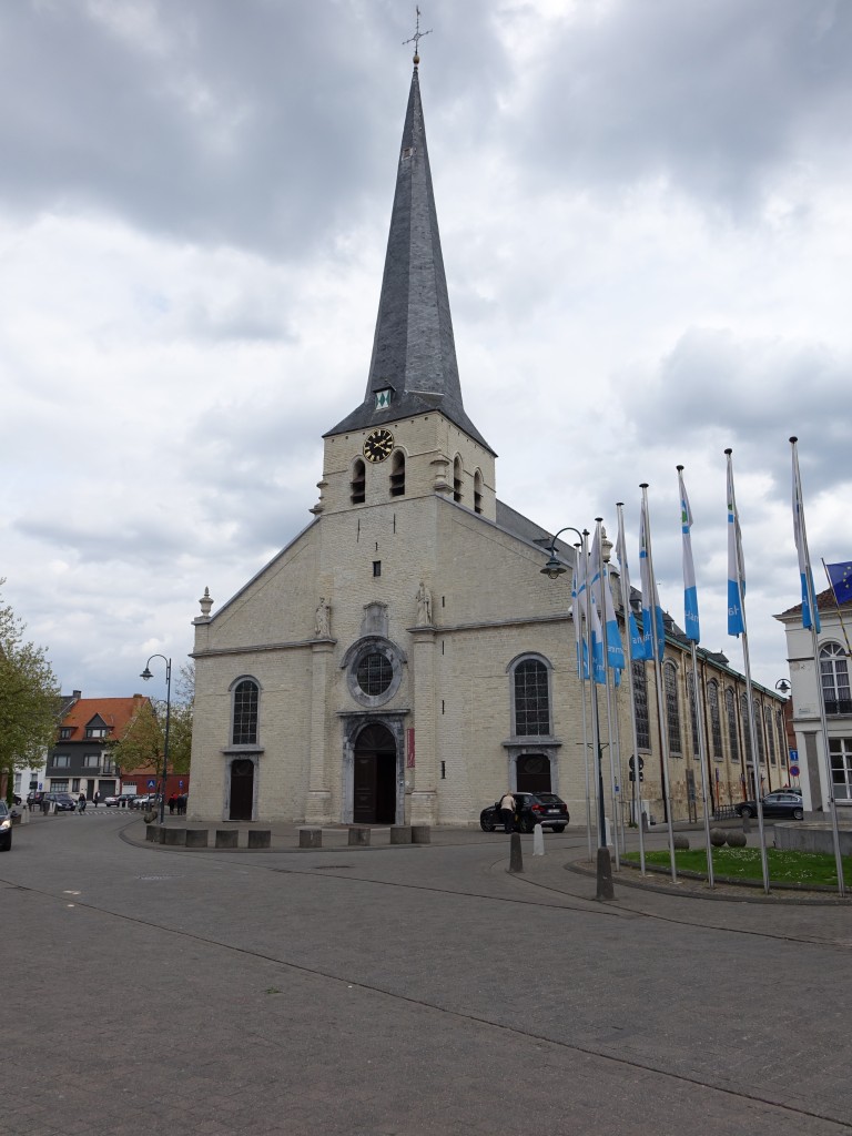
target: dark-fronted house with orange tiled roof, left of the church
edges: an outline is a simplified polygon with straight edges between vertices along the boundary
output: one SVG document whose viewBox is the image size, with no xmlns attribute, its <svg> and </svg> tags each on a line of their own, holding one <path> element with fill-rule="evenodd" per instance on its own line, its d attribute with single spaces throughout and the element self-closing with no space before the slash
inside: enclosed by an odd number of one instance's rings
<svg viewBox="0 0 852 1136">
<path fill-rule="evenodd" d="M 80 691 L 62 716 L 56 744 L 48 753 L 44 788 L 50 792 L 95 793 L 101 800 L 120 791 L 110 743 L 120 741 L 140 708 L 150 704 L 143 694 L 128 699 L 84 699 Z"/>
</svg>

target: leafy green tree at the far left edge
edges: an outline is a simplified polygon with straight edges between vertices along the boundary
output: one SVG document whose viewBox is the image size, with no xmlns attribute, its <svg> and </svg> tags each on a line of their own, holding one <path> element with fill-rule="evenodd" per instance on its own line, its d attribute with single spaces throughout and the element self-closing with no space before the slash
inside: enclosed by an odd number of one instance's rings
<svg viewBox="0 0 852 1136">
<path fill-rule="evenodd" d="M 0 607 L 0 775 L 9 799 L 14 770 L 39 763 L 53 742 L 61 705 L 47 650 L 27 643 L 25 629 L 10 605 Z"/>
</svg>

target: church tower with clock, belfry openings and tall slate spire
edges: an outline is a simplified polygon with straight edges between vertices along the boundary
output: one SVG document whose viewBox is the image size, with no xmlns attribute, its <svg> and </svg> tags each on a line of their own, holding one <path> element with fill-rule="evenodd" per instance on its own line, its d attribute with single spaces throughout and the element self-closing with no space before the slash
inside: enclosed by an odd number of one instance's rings
<svg viewBox="0 0 852 1136">
<path fill-rule="evenodd" d="M 494 452 L 461 398 L 418 62 L 415 56 L 367 390 L 325 434 L 312 512 L 438 493 L 493 520 Z"/>
</svg>

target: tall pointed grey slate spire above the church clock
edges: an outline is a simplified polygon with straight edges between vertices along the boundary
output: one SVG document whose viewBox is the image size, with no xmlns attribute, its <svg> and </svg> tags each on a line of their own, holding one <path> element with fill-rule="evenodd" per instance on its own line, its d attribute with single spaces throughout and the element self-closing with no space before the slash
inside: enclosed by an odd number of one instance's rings
<svg viewBox="0 0 852 1136">
<path fill-rule="evenodd" d="M 415 56 L 367 391 L 326 436 L 440 410 L 493 452 L 461 399 L 418 62 Z"/>
</svg>

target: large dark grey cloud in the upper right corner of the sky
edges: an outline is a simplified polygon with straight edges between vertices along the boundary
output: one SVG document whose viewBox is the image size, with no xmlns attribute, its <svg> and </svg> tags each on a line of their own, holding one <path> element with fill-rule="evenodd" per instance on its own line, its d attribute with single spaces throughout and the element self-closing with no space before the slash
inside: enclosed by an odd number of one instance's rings
<svg viewBox="0 0 852 1136">
<path fill-rule="evenodd" d="M 579 185 L 671 179 L 750 210 L 771 172 L 837 144 L 851 51 L 852 9 L 833 0 L 580 8 L 523 110 L 526 153 Z"/>
</svg>

